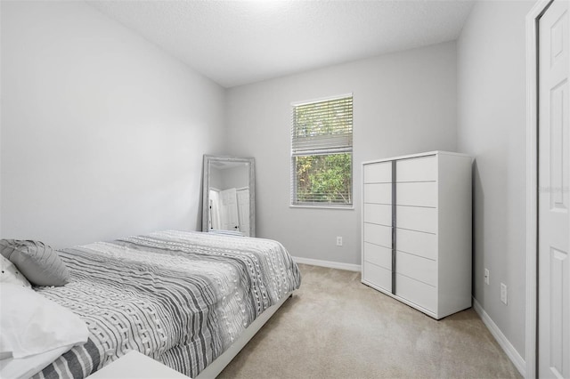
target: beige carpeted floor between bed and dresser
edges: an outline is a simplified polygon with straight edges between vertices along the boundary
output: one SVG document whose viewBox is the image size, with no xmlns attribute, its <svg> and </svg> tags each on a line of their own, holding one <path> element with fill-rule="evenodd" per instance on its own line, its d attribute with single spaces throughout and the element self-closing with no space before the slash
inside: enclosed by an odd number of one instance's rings
<svg viewBox="0 0 570 379">
<path fill-rule="evenodd" d="M 362 285 L 299 265 L 301 288 L 218 378 L 519 378 L 472 309 L 436 321 Z"/>
</svg>

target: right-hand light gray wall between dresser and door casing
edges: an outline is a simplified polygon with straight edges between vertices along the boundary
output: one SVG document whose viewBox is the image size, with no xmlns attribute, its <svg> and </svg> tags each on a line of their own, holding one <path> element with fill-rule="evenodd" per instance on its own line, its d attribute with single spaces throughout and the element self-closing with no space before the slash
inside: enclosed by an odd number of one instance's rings
<svg viewBox="0 0 570 379">
<path fill-rule="evenodd" d="M 458 41 L 458 146 L 476 157 L 474 296 L 523 359 L 525 15 L 533 4 L 478 2 Z"/>
</svg>

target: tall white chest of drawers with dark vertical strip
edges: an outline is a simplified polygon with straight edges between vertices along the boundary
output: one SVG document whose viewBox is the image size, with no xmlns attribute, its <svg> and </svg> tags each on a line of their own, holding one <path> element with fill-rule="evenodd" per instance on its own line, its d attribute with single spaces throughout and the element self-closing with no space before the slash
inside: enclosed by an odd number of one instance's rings
<svg viewBox="0 0 570 379">
<path fill-rule="evenodd" d="M 471 307 L 471 163 L 432 151 L 362 164 L 362 283 L 434 319 Z"/>
</svg>

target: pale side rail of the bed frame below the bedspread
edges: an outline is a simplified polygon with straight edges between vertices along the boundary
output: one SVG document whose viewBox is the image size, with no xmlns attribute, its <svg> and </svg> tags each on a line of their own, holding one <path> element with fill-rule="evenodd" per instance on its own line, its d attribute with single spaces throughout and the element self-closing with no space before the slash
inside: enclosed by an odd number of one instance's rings
<svg viewBox="0 0 570 379">
<path fill-rule="evenodd" d="M 236 355 L 243 349 L 243 347 L 253 338 L 254 335 L 265 325 L 265 323 L 271 319 L 273 314 L 281 308 L 284 302 L 289 300 L 289 297 L 292 297 L 293 293 L 290 292 L 286 296 L 273 304 L 271 307 L 264 310 L 264 312 L 257 317 L 250 325 L 243 331 L 240 337 L 232 343 L 232 346 L 228 348 L 228 350 L 224 351 L 222 355 L 218 358 L 214 359 L 212 363 L 208 365 L 208 367 L 204 368 L 195 379 L 212 379 L 219 375 L 226 366 L 235 358 Z"/>
</svg>

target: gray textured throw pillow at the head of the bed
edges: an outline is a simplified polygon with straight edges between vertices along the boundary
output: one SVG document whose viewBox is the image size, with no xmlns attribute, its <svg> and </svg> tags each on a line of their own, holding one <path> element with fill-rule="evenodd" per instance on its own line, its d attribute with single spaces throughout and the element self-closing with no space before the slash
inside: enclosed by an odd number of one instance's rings
<svg viewBox="0 0 570 379">
<path fill-rule="evenodd" d="M 0 254 L 34 286 L 63 286 L 69 272 L 52 247 L 39 241 L 0 239 Z"/>
</svg>

